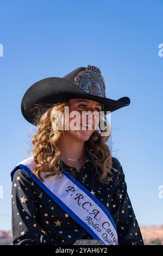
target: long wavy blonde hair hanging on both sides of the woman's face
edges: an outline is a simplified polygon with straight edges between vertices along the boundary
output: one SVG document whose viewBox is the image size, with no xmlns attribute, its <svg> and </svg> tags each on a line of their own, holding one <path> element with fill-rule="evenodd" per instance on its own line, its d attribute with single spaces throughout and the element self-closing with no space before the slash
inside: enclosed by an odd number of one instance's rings
<svg viewBox="0 0 163 256">
<path fill-rule="evenodd" d="M 44 178 L 49 176 L 62 175 L 60 172 L 60 149 L 58 148 L 58 141 L 64 134 L 64 129 L 53 129 L 53 122 L 59 122 L 59 116 L 55 115 L 56 111 L 65 113 L 65 107 L 68 106 L 68 101 L 57 103 L 55 105 L 35 105 L 32 111 L 37 113 L 35 118 L 35 125 L 37 131 L 35 131 L 32 139 L 32 155 L 34 157 L 35 167 L 33 172 L 35 175 L 43 181 Z M 99 122 L 101 119 L 99 119 Z M 110 129 L 109 124 L 106 122 L 106 115 L 104 115 L 104 125 Z M 62 127 L 64 126 L 64 120 L 62 120 Z M 106 131 L 106 129 L 105 129 Z M 108 142 L 109 136 L 101 136 L 101 128 L 95 130 L 90 138 L 84 142 L 86 155 L 89 156 L 92 164 L 96 167 L 97 179 L 103 184 L 108 184 L 108 175 L 111 174 L 112 157 Z M 103 131 L 104 132 L 104 131 Z M 43 175 L 43 178 L 41 174 Z M 71 173 L 71 170 L 70 170 Z M 73 175 L 73 173 L 71 173 Z"/>
</svg>

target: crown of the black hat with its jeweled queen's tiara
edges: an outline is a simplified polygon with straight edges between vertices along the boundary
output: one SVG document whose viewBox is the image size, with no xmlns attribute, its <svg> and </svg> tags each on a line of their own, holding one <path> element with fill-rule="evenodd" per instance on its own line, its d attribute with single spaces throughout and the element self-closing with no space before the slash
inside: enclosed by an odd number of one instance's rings
<svg viewBox="0 0 163 256">
<path fill-rule="evenodd" d="M 104 77 L 97 66 L 87 65 L 86 68 L 77 68 L 63 78 L 73 82 L 89 95 L 106 97 Z"/>
</svg>

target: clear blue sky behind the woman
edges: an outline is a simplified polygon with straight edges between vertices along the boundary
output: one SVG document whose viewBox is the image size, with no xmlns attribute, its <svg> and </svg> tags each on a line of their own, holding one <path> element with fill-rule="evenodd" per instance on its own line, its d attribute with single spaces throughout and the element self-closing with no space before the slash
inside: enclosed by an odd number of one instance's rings
<svg viewBox="0 0 163 256">
<path fill-rule="evenodd" d="M 98 66 L 106 96 L 129 96 L 111 114 L 112 155 L 121 162 L 140 225 L 163 224 L 163 2 L 0 0 L 0 230 L 11 228 L 10 172 L 30 148 L 21 114 L 26 90 L 46 77 Z"/>
</svg>

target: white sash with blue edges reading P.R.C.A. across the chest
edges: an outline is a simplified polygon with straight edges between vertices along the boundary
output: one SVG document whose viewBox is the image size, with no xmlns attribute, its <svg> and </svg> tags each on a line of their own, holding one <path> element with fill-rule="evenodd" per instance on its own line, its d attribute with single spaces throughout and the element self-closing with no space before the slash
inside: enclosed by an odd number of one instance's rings
<svg viewBox="0 0 163 256">
<path fill-rule="evenodd" d="M 116 224 L 110 212 L 71 174 L 61 170 L 63 177 L 60 174 L 57 178 L 48 177 L 42 182 L 32 172 L 35 167 L 32 156 L 14 167 L 11 180 L 18 167 L 95 239 L 101 240 L 104 245 L 118 245 Z"/>
</svg>

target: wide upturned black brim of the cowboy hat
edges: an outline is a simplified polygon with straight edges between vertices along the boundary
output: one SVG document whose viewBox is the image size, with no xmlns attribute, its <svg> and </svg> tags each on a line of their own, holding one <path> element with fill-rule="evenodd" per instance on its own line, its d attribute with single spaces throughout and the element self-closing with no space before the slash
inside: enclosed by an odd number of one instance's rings
<svg viewBox="0 0 163 256">
<path fill-rule="evenodd" d="M 34 83 L 28 88 L 21 102 L 21 112 L 29 123 L 35 124 L 35 117 L 38 110 L 36 108 L 35 111 L 32 111 L 32 109 L 36 104 L 48 104 L 50 106 L 76 98 L 89 99 L 102 103 L 104 106 L 103 111 L 105 112 L 113 112 L 130 104 L 129 97 L 112 100 L 106 97 L 89 95 L 65 78 L 48 77 Z"/>
</svg>

